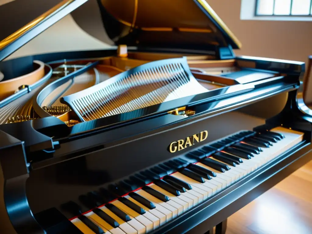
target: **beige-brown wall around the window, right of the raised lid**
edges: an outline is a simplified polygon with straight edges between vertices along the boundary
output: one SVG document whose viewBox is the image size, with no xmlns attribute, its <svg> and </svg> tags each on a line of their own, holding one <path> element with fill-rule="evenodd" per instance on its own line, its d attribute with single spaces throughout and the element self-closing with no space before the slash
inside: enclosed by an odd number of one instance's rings
<svg viewBox="0 0 312 234">
<path fill-rule="evenodd" d="M 240 20 L 241 0 L 206 0 L 241 41 L 237 55 L 307 62 L 312 22 Z"/>
</svg>

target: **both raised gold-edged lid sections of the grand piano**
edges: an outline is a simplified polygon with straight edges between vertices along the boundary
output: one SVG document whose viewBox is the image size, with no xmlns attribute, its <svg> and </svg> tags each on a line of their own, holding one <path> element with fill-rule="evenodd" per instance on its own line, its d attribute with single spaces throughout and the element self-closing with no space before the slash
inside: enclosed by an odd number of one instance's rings
<svg viewBox="0 0 312 234">
<path fill-rule="evenodd" d="M 24 0 L 1 5 L 0 61 L 87 1 L 28 0 L 27 11 Z M 115 45 L 201 51 L 241 47 L 205 0 L 96 1 Z"/>
</svg>

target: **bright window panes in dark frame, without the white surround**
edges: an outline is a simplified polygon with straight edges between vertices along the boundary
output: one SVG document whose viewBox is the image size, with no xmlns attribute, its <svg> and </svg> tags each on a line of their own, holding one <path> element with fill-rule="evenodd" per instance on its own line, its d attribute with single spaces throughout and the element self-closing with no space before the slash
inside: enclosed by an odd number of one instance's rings
<svg viewBox="0 0 312 234">
<path fill-rule="evenodd" d="M 312 0 L 256 1 L 256 16 L 312 16 Z"/>
</svg>

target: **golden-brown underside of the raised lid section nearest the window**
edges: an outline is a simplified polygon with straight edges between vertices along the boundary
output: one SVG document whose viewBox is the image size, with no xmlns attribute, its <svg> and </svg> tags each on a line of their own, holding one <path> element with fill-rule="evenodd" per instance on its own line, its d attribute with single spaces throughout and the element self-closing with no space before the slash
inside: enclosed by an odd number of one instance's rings
<svg viewBox="0 0 312 234">
<path fill-rule="evenodd" d="M 97 0 L 115 44 L 210 50 L 241 43 L 204 0 Z"/>
</svg>

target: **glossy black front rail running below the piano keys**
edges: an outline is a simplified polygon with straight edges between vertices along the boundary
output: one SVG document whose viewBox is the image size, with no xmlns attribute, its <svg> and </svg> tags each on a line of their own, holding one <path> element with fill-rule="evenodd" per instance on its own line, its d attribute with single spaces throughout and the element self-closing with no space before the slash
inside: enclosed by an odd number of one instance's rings
<svg viewBox="0 0 312 234">
<path fill-rule="evenodd" d="M 306 140 L 150 234 L 205 233 L 312 159 Z M 200 216 L 201 218 L 199 219 Z M 200 221 L 198 221 L 200 220 Z"/>
</svg>

